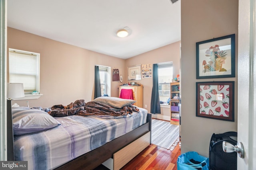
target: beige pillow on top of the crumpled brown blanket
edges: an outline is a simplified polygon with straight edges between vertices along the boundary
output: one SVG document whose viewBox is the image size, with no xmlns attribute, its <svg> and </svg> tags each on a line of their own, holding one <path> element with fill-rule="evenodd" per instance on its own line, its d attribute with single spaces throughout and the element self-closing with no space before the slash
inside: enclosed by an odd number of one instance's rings
<svg viewBox="0 0 256 170">
<path fill-rule="evenodd" d="M 121 98 L 114 98 L 114 97 L 98 97 L 93 101 L 107 104 L 118 109 L 121 109 L 124 106 L 130 106 L 136 102 L 135 100 L 121 99 Z"/>
</svg>

